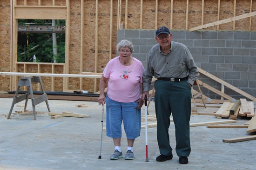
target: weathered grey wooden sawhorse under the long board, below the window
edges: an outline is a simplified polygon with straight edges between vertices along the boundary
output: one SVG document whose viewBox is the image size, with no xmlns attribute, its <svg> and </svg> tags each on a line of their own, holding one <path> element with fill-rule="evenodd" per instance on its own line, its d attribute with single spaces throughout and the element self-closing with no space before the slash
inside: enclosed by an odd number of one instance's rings
<svg viewBox="0 0 256 170">
<path fill-rule="evenodd" d="M 42 95 L 40 95 L 36 98 L 34 98 L 34 94 L 33 94 L 33 88 L 32 88 L 32 83 L 33 82 L 37 82 L 37 83 L 39 82 L 40 85 L 41 85 L 42 92 L 43 92 Z M 22 95 L 18 96 L 20 86 L 28 86 L 28 89 L 27 89 L 26 94 L 22 94 Z M 24 110 L 27 108 L 27 101 L 28 101 L 29 94 L 31 96 L 31 102 L 32 102 L 33 113 L 34 113 L 34 120 L 36 120 L 35 106 L 38 105 L 39 103 L 43 102 L 43 101 L 46 102 L 48 111 L 51 112 L 49 104 L 48 104 L 47 94 L 44 91 L 41 77 L 40 76 L 20 77 L 20 80 L 18 82 L 18 87 L 17 87 L 17 90 L 15 92 L 15 95 L 14 95 L 14 98 L 13 98 L 13 103 L 12 103 L 12 106 L 11 106 L 11 109 L 10 109 L 10 112 L 8 114 L 7 119 L 10 119 L 11 113 L 13 111 L 13 107 L 16 103 L 19 103 L 20 101 L 26 100 Z"/>
</svg>

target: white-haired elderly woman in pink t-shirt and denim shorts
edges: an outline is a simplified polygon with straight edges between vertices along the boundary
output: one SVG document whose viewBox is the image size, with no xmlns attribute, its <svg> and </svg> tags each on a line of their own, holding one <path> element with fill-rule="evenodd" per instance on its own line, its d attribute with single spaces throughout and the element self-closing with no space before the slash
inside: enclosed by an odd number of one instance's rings
<svg viewBox="0 0 256 170">
<path fill-rule="evenodd" d="M 128 148 L 125 160 L 134 159 L 133 145 L 141 132 L 141 99 L 142 75 L 144 67 L 132 57 L 133 44 L 121 40 L 116 46 L 119 56 L 111 59 L 106 65 L 100 80 L 100 97 L 98 102 L 106 103 L 107 136 L 113 138 L 115 151 L 111 160 L 123 157 L 121 151 L 121 124 L 123 122 Z M 105 98 L 104 89 L 108 82 Z"/>
</svg>

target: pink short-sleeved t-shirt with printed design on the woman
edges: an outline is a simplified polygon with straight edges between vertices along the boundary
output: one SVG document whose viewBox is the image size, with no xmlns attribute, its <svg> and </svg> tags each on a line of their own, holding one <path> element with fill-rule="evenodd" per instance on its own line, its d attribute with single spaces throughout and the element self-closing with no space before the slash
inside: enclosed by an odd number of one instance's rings
<svg viewBox="0 0 256 170">
<path fill-rule="evenodd" d="M 106 65 L 103 76 L 108 78 L 108 97 L 114 101 L 129 103 L 141 97 L 142 75 L 144 67 L 134 58 L 134 62 L 125 66 L 119 56 L 111 59 Z"/>
</svg>

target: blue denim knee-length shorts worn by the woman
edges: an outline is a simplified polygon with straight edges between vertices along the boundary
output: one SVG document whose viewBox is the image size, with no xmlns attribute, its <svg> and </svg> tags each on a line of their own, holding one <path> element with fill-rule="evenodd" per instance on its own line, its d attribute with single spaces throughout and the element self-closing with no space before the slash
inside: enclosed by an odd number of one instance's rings
<svg viewBox="0 0 256 170">
<path fill-rule="evenodd" d="M 110 138 L 121 138 L 123 122 L 124 131 L 128 139 L 135 139 L 141 133 L 141 109 L 138 103 L 122 103 L 113 101 L 106 96 L 106 130 Z"/>
</svg>

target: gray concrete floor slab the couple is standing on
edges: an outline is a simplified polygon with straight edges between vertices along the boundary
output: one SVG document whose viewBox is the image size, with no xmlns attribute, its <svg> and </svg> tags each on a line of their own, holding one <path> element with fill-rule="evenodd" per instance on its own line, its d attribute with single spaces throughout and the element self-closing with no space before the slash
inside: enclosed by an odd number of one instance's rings
<svg viewBox="0 0 256 170">
<path fill-rule="evenodd" d="M 110 155 L 114 152 L 111 138 L 103 132 L 101 159 L 101 106 L 94 101 L 56 101 L 49 100 L 50 109 L 54 113 L 64 111 L 91 115 L 90 118 L 62 117 L 51 119 L 47 114 L 45 102 L 36 106 L 36 111 L 44 112 L 34 116 L 14 115 L 7 120 L 13 99 L 0 98 L 0 170 L 255 170 L 256 140 L 223 143 L 222 139 L 243 137 L 248 135 L 246 128 L 207 128 L 195 126 L 190 128 L 192 151 L 189 164 L 179 164 L 173 151 L 173 159 L 157 162 L 159 155 L 156 127 L 148 128 L 148 159 L 145 153 L 145 130 L 135 140 L 135 159 L 124 158 L 113 161 Z M 24 104 L 15 104 L 14 111 L 21 111 Z M 86 104 L 88 107 L 76 107 Z M 202 112 L 210 110 L 200 108 Z M 32 110 L 28 101 L 27 110 Z M 154 102 L 148 108 L 155 114 Z M 143 106 L 142 115 L 145 114 Z M 104 119 L 105 119 L 104 114 Z M 192 115 L 191 123 L 217 121 L 215 116 Z M 220 120 L 221 121 L 221 120 Z M 244 124 L 247 119 L 239 119 L 235 124 Z M 149 122 L 148 122 L 149 123 Z M 105 120 L 104 120 L 105 126 Z M 173 122 L 169 128 L 170 143 L 175 148 L 175 129 Z M 123 132 L 121 147 L 127 150 L 127 141 Z"/>
</svg>

